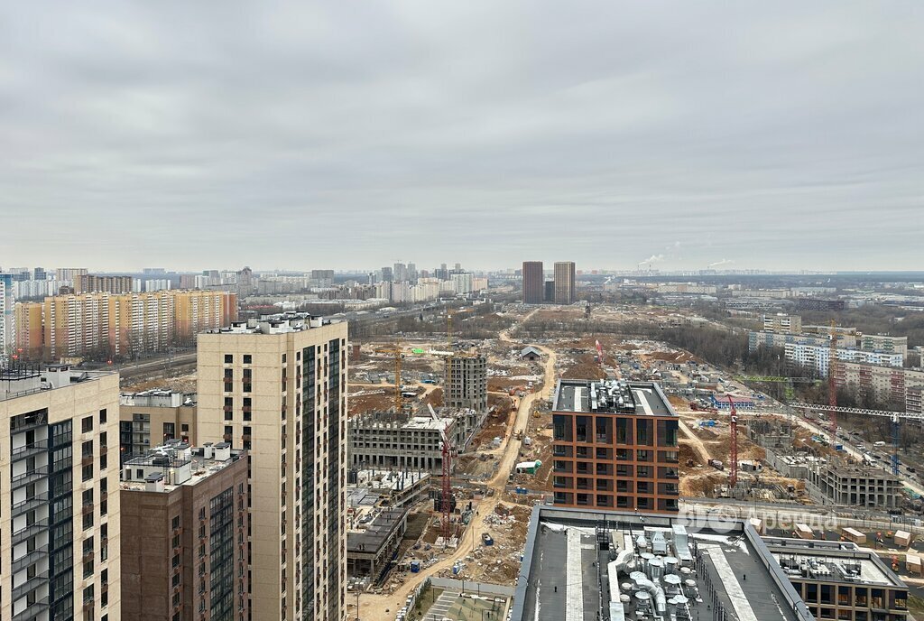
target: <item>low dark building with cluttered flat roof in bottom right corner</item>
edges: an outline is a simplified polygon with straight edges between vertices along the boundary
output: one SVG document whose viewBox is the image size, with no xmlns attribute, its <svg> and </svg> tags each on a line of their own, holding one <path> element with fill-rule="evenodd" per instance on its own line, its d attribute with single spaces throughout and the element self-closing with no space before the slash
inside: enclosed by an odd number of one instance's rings
<svg viewBox="0 0 924 621">
<path fill-rule="evenodd" d="M 870 551 L 852 542 L 764 538 L 817 619 L 904 621 L 908 588 Z"/>
</svg>

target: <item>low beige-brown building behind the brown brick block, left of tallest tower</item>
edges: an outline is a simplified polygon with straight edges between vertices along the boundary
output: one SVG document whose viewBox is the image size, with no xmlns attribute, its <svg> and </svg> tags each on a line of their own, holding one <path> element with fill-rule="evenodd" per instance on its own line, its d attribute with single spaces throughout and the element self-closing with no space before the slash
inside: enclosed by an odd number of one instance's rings
<svg viewBox="0 0 924 621">
<path fill-rule="evenodd" d="M 170 390 L 147 390 L 119 396 L 119 450 L 123 460 L 153 446 L 178 439 L 199 444 L 196 404 L 192 396 Z"/>
</svg>

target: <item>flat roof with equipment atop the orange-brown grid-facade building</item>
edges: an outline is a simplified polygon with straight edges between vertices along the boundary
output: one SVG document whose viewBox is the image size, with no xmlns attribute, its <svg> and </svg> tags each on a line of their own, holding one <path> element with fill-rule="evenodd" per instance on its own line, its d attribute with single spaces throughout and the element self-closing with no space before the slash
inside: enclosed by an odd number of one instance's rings
<svg viewBox="0 0 924 621">
<path fill-rule="evenodd" d="M 559 380 L 553 404 L 556 412 L 676 416 L 655 382 Z"/>
</svg>

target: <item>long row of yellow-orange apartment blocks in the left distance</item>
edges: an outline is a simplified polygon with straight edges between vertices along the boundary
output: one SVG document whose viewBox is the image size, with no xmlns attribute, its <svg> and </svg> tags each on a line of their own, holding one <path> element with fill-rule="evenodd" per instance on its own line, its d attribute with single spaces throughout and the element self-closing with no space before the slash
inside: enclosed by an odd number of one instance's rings
<svg viewBox="0 0 924 621">
<path fill-rule="evenodd" d="M 54 296 L 44 299 L 41 312 L 33 304 L 17 305 L 17 325 L 29 328 L 18 336 L 17 347 L 33 359 L 131 358 L 190 343 L 194 335 L 236 319 L 237 295 L 224 291 Z"/>
</svg>

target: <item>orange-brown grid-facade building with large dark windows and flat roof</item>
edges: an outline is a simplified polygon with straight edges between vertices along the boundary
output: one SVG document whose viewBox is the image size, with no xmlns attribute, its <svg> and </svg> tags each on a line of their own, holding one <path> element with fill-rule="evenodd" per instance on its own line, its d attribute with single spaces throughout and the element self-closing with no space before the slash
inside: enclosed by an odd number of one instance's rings
<svg viewBox="0 0 924 621">
<path fill-rule="evenodd" d="M 658 384 L 559 380 L 552 417 L 556 506 L 678 510 L 678 419 Z"/>
</svg>

